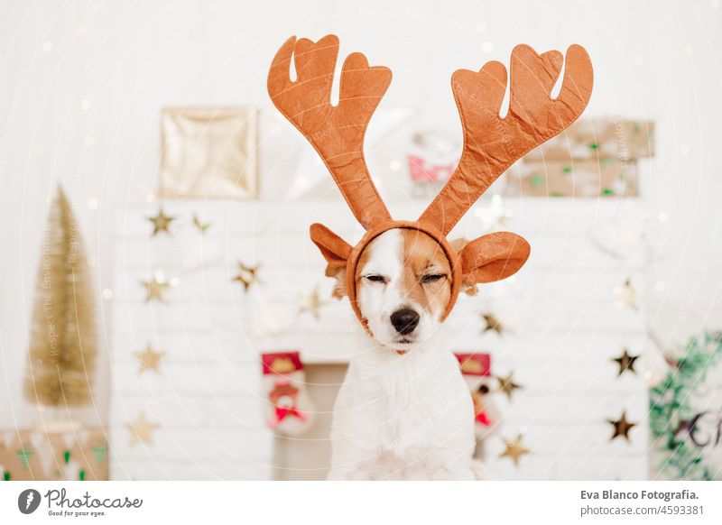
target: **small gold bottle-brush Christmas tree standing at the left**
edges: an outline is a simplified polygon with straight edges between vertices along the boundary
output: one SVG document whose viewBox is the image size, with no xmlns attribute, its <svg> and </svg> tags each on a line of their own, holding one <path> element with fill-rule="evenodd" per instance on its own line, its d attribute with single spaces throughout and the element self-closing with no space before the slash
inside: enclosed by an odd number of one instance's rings
<svg viewBox="0 0 722 525">
<path fill-rule="evenodd" d="M 42 242 L 32 313 L 25 395 L 45 407 L 92 398 L 96 311 L 78 223 L 59 187 Z"/>
</svg>

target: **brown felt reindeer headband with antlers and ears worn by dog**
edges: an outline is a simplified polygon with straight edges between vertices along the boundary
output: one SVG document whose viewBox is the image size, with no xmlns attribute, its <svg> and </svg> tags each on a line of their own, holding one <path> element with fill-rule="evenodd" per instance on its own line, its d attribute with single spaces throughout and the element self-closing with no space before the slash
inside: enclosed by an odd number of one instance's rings
<svg viewBox="0 0 722 525">
<path fill-rule="evenodd" d="M 294 59 L 296 80 L 289 77 Z M 482 235 L 460 253 L 446 235 L 491 184 L 526 152 L 573 123 L 591 96 L 593 72 L 587 51 L 569 47 L 558 97 L 551 89 L 560 75 L 559 51 L 538 55 L 527 45 L 512 51 L 509 112 L 499 109 L 506 90 L 506 68 L 491 61 L 478 72 L 458 69 L 451 88 L 464 130 L 464 149 L 457 169 L 418 221 L 394 221 L 375 189 L 364 159 L 364 135 L 386 88 L 391 70 L 369 67 L 366 57 L 352 53 L 341 70 L 338 106 L 331 106 L 331 84 L 338 57 L 338 37 L 313 42 L 293 36 L 276 53 L 268 74 L 273 104 L 319 153 L 366 235 L 356 246 L 347 244 L 326 226 L 310 226 L 310 236 L 331 267 L 347 267 L 347 292 L 356 316 L 366 324 L 356 304 L 356 263 L 377 235 L 392 228 L 413 228 L 440 244 L 452 269 L 451 300 L 462 281 L 493 282 L 517 272 L 529 257 L 529 244 L 519 235 Z"/>
</svg>

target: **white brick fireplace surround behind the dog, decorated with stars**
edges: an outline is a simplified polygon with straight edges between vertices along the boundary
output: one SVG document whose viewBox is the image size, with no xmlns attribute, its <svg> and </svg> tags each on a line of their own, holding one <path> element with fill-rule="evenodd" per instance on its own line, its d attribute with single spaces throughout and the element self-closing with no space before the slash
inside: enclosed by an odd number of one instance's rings
<svg viewBox="0 0 722 525">
<path fill-rule="evenodd" d="M 339 199 L 340 200 L 340 199 Z M 619 309 L 615 288 L 631 279 L 645 285 L 642 250 L 616 259 L 590 240 L 595 228 L 624 228 L 618 200 L 507 200 L 507 229 L 525 236 L 532 257 L 511 280 L 461 298 L 449 318 L 458 350 L 492 354 L 495 373 L 514 371 L 523 390 L 513 401 L 498 396 L 502 435 L 523 433 L 524 456 L 514 467 L 493 460 L 495 476 L 509 479 L 638 479 L 647 475 L 647 396 L 643 360 L 636 376 L 616 378 L 610 359 L 623 347 L 643 354 L 642 310 Z M 265 479 L 273 462 L 273 434 L 261 413 L 260 365 L 264 350 L 301 349 L 307 362 L 343 362 L 357 347 L 356 322 L 346 302 L 323 307 L 319 322 L 299 314 L 299 294 L 330 280 L 308 238 L 319 221 L 349 241 L 362 235 L 341 202 L 269 204 L 174 201 L 174 235 L 150 236 L 146 216 L 158 205 L 124 207 L 116 220 L 113 309 L 111 475 L 115 479 Z M 421 205 L 392 206 L 399 217 Z M 198 213 L 213 223 L 202 237 L 190 225 Z M 483 233 L 468 214 L 454 236 Z M 614 234 L 614 231 L 611 232 Z M 244 295 L 231 282 L 236 262 L 261 263 L 263 281 Z M 167 304 L 143 302 L 139 281 L 161 268 L 177 286 Z M 509 327 L 504 336 L 481 333 L 479 313 L 490 310 Z M 137 372 L 132 355 L 150 341 L 165 352 L 160 373 Z M 632 442 L 610 442 L 606 419 L 626 410 L 638 423 Z M 161 425 L 153 446 L 128 445 L 125 423 L 144 411 Z M 497 456 L 500 438 L 488 452 Z"/>
</svg>

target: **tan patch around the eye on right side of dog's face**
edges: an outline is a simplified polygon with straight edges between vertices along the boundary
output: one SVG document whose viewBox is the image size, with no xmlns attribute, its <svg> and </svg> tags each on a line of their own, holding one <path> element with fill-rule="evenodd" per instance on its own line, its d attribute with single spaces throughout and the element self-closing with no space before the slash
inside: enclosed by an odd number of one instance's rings
<svg viewBox="0 0 722 525">
<path fill-rule="evenodd" d="M 444 311 L 451 299 L 449 258 L 428 234 L 404 229 L 402 236 L 404 294 L 432 314 Z"/>
</svg>

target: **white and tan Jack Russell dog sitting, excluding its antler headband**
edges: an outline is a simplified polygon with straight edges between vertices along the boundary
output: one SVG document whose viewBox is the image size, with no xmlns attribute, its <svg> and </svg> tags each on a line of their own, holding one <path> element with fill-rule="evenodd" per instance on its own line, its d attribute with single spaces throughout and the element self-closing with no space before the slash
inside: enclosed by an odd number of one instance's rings
<svg viewBox="0 0 722 525">
<path fill-rule="evenodd" d="M 346 269 L 329 272 L 340 299 Z M 450 279 L 440 245 L 418 230 L 389 230 L 361 255 L 356 290 L 374 345 L 338 392 L 329 479 L 477 477 L 472 398 L 440 333 Z"/>
</svg>

